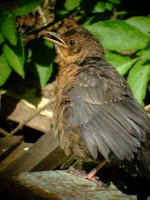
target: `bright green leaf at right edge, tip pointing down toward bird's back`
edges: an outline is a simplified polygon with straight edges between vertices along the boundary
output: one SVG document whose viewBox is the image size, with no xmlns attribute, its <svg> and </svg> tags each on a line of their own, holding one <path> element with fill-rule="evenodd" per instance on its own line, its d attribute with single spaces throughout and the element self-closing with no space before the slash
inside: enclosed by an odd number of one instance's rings
<svg viewBox="0 0 150 200">
<path fill-rule="evenodd" d="M 135 98 L 142 105 L 144 105 L 143 100 L 146 95 L 146 89 L 149 80 L 150 63 L 144 64 L 143 60 L 137 62 L 129 72 L 128 83 Z"/>
</svg>

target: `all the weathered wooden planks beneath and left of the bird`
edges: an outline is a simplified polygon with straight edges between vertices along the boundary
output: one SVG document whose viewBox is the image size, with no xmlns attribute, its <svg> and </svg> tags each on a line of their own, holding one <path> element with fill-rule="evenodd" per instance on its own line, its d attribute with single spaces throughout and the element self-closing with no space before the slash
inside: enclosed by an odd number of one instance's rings
<svg viewBox="0 0 150 200">
<path fill-rule="evenodd" d="M 20 123 L 35 112 L 22 101 L 13 100 L 10 107 L 8 102 L 3 96 L 1 116 L 9 121 Z M 26 124 L 31 131 L 43 133 L 35 143 L 25 142 L 22 135 L 0 138 L 0 193 L 4 200 L 136 200 L 137 195 L 145 200 L 150 195 L 138 188 L 123 191 L 115 181 L 103 187 L 60 170 L 70 158 L 60 148 L 58 138 L 48 131 L 49 121 L 47 115 L 38 114 Z M 136 180 L 130 184 L 136 187 Z"/>
</svg>

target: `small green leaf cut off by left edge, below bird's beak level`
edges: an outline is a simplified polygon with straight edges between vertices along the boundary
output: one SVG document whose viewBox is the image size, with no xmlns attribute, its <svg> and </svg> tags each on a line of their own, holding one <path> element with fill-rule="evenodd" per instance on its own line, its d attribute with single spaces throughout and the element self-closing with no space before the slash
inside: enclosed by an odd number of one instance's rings
<svg viewBox="0 0 150 200">
<path fill-rule="evenodd" d="M 2 86 L 8 79 L 11 73 L 11 68 L 9 67 L 7 60 L 4 55 L 0 56 L 0 86 Z"/>
</svg>

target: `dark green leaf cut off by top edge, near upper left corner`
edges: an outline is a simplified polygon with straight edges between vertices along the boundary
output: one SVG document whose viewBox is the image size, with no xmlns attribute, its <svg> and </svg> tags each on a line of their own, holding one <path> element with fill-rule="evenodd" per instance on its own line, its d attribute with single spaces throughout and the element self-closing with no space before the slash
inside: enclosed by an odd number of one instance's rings
<svg viewBox="0 0 150 200">
<path fill-rule="evenodd" d="M 43 0 L 17 0 L 16 16 L 27 15 L 32 12 Z"/>
</svg>

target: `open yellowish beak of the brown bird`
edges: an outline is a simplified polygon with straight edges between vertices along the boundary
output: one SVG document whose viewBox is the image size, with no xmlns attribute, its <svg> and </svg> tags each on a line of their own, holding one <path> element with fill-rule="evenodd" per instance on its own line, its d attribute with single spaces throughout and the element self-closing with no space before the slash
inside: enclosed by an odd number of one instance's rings
<svg viewBox="0 0 150 200">
<path fill-rule="evenodd" d="M 55 33 L 55 32 L 49 31 L 49 32 L 47 32 L 47 33 L 44 35 L 44 38 L 45 38 L 46 40 L 49 40 L 49 41 L 51 41 L 51 42 L 54 42 L 54 44 L 67 47 L 67 45 L 66 45 L 66 43 L 64 42 L 64 40 L 61 39 L 61 36 L 60 36 L 59 33 Z"/>
</svg>

